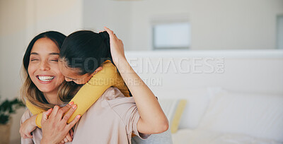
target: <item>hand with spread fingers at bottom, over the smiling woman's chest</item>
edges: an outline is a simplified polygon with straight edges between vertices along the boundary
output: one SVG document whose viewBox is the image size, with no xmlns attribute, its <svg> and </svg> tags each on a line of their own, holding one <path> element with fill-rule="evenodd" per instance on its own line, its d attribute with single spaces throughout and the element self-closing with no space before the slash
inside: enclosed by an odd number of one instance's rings
<svg viewBox="0 0 283 144">
<path fill-rule="evenodd" d="M 67 104 L 60 108 L 55 106 L 42 115 L 42 140 L 41 143 L 59 143 L 69 133 L 70 129 L 79 121 L 80 115 L 67 124 L 71 114 L 76 110 L 76 104 Z M 66 114 L 65 114 L 66 113 Z M 49 117 L 48 117 L 49 116 Z"/>
</svg>

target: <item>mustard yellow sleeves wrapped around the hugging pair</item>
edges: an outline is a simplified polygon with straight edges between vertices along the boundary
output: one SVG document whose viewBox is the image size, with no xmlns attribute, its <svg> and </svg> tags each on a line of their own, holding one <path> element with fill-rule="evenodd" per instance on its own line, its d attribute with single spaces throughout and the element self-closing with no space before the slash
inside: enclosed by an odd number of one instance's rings
<svg viewBox="0 0 283 144">
<path fill-rule="evenodd" d="M 67 123 L 69 124 L 78 114 L 83 115 L 89 107 L 103 95 L 103 92 L 111 86 L 118 88 L 126 97 L 129 97 L 129 90 L 122 76 L 120 76 L 120 73 L 117 73 L 117 68 L 111 61 L 107 60 L 103 63 L 103 69 L 93 75 L 93 77 L 88 80 L 88 83 L 83 85 L 70 101 L 77 104 L 78 107 Z M 42 112 L 45 112 L 45 110 L 35 107 L 28 102 L 28 100 L 26 101 L 26 107 L 30 109 L 32 114 L 37 114 L 35 123 L 41 128 Z"/>
</svg>

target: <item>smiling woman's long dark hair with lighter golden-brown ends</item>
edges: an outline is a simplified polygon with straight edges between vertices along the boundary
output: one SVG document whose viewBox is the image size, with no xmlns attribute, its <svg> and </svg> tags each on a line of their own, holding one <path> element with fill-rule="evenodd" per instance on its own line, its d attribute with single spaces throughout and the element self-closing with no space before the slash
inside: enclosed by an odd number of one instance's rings
<svg viewBox="0 0 283 144">
<path fill-rule="evenodd" d="M 23 56 L 23 75 L 25 81 L 21 88 L 21 98 L 23 102 L 27 100 L 36 107 L 47 110 L 54 107 L 54 104 L 49 104 L 49 102 L 47 102 L 43 93 L 36 87 L 28 74 L 30 52 L 33 49 L 33 45 L 37 40 L 44 37 L 52 40 L 57 45 L 59 50 L 62 47 L 64 39 L 66 38 L 66 36 L 60 32 L 48 31 L 40 33 L 39 35 L 34 37 L 33 40 L 31 40 L 30 44 L 28 44 L 28 48 L 25 51 L 25 55 Z M 71 98 L 74 97 L 74 94 L 78 87 L 79 85 L 76 85 L 75 83 L 64 81 L 62 85 L 59 86 L 58 99 L 62 102 L 69 102 Z"/>
</svg>

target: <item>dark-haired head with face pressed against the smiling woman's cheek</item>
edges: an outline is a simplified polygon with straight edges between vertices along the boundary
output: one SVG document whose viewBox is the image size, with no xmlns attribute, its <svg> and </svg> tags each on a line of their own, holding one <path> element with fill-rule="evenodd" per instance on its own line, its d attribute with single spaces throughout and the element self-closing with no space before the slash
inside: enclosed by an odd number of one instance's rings
<svg viewBox="0 0 283 144">
<path fill-rule="evenodd" d="M 80 30 L 64 40 L 59 68 L 65 80 L 85 84 L 106 59 L 112 61 L 108 33 Z"/>
</svg>

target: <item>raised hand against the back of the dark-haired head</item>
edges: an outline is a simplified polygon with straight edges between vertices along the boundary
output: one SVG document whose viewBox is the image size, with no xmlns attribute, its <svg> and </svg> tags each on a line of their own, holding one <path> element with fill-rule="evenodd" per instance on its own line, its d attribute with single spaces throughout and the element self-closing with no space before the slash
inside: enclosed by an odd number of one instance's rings
<svg viewBox="0 0 283 144">
<path fill-rule="evenodd" d="M 117 65 L 119 61 L 126 60 L 125 52 L 124 52 L 124 44 L 122 40 L 118 39 L 118 37 L 114 34 L 112 30 L 106 27 L 104 27 L 104 30 L 106 30 L 109 34 L 112 60 L 114 64 Z"/>
</svg>

